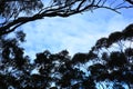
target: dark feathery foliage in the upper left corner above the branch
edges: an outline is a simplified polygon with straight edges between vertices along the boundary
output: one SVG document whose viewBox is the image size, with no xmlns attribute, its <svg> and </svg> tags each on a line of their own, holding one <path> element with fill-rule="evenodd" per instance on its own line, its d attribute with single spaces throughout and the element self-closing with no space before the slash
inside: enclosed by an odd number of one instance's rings
<svg viewBox="0 0 133 89">
<path fill-rule="evenodd" d="M 21 12 L 29 14 L 42 7 L 41 0 L 0 0 L 0 16 L 16 19 Z"/>
</svg>

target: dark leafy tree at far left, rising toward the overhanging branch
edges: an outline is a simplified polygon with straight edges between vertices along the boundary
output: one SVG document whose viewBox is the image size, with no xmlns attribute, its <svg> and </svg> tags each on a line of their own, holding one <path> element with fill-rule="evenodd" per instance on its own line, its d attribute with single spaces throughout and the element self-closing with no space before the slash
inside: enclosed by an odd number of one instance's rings
<svg viewBox="0 0 133 89">
<path fill-rule="evenodd" d="M 23 42 L 24 36 L 22 31 L 19 31 L 16 38 L 2 36 L 0 39 L 1 89 L 21 89 L 22 82 L 24 85 L 24 78 L 30 76 L 32 69 L 30 59 L 23 56 L 23 48 L 19 46 L 20 42 Z"/>
</svg>

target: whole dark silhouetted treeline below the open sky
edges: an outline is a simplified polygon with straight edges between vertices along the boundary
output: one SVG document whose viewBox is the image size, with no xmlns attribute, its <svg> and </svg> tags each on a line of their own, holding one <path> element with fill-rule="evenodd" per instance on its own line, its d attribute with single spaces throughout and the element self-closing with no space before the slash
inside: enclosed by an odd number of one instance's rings
<svg viewBox="0 0 133 89">
<path fill-rule="evenodd" d="M 133 87 L 133 24 L 101 38 L 88 53 L 39 52 L 35 59 L 20 47 L 25 34 L 0 39 L 1 89 L 125 89 Z M 115 38 L 115 36 L 117 36 Z M 33 62 L 31 62 L 33 60 Z M 113 86 L 111 86 L 111 83 Z"/>
</svg>

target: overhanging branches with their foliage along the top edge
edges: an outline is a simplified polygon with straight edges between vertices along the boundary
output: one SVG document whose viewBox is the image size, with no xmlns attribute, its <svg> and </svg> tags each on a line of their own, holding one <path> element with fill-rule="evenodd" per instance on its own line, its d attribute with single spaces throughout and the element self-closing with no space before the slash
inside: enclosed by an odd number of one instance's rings
<svg viewBox="0 0 133 89">
<path fill-rule="evenodd" d="M 0 36 L 14 31 L 23 23 L 45 17 L 65 18 L 99 8 L 110 9 L 115 12 L 119 12 L 117 10 L 122 8 L 133 8 L 132 0 L 122 0 L 120 2 L 116 0 L 50 0 L 49 2 L 42 3 L 41 0 L 1 0 L 0 16 L 3 21 L 0 23 Z M 49 4 L 47 6 L 47 3 Z M 28 13 L 32 14 L 25 16 Z"/>
</svg>

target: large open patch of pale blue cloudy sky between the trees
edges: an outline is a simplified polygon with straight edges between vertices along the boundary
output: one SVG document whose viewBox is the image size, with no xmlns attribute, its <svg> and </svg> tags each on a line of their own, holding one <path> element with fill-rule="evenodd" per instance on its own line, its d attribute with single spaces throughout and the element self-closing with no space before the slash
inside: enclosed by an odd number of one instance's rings
<svg viewBox="0 0 133 89">
<path fill-rule="evenodd" d="M 35 58 L 37 52 L 49 50 L 58 53 L 68 50 L 70 56 L 89 52 L 101 37 L 121 31 L 133 22 L 132 9 L 121 10 L 121 14 L 111 10 L 98 9 L 68 18 L 44 18 L 23 24 L 25 33 L 25 55 Z"/>
</svg>

